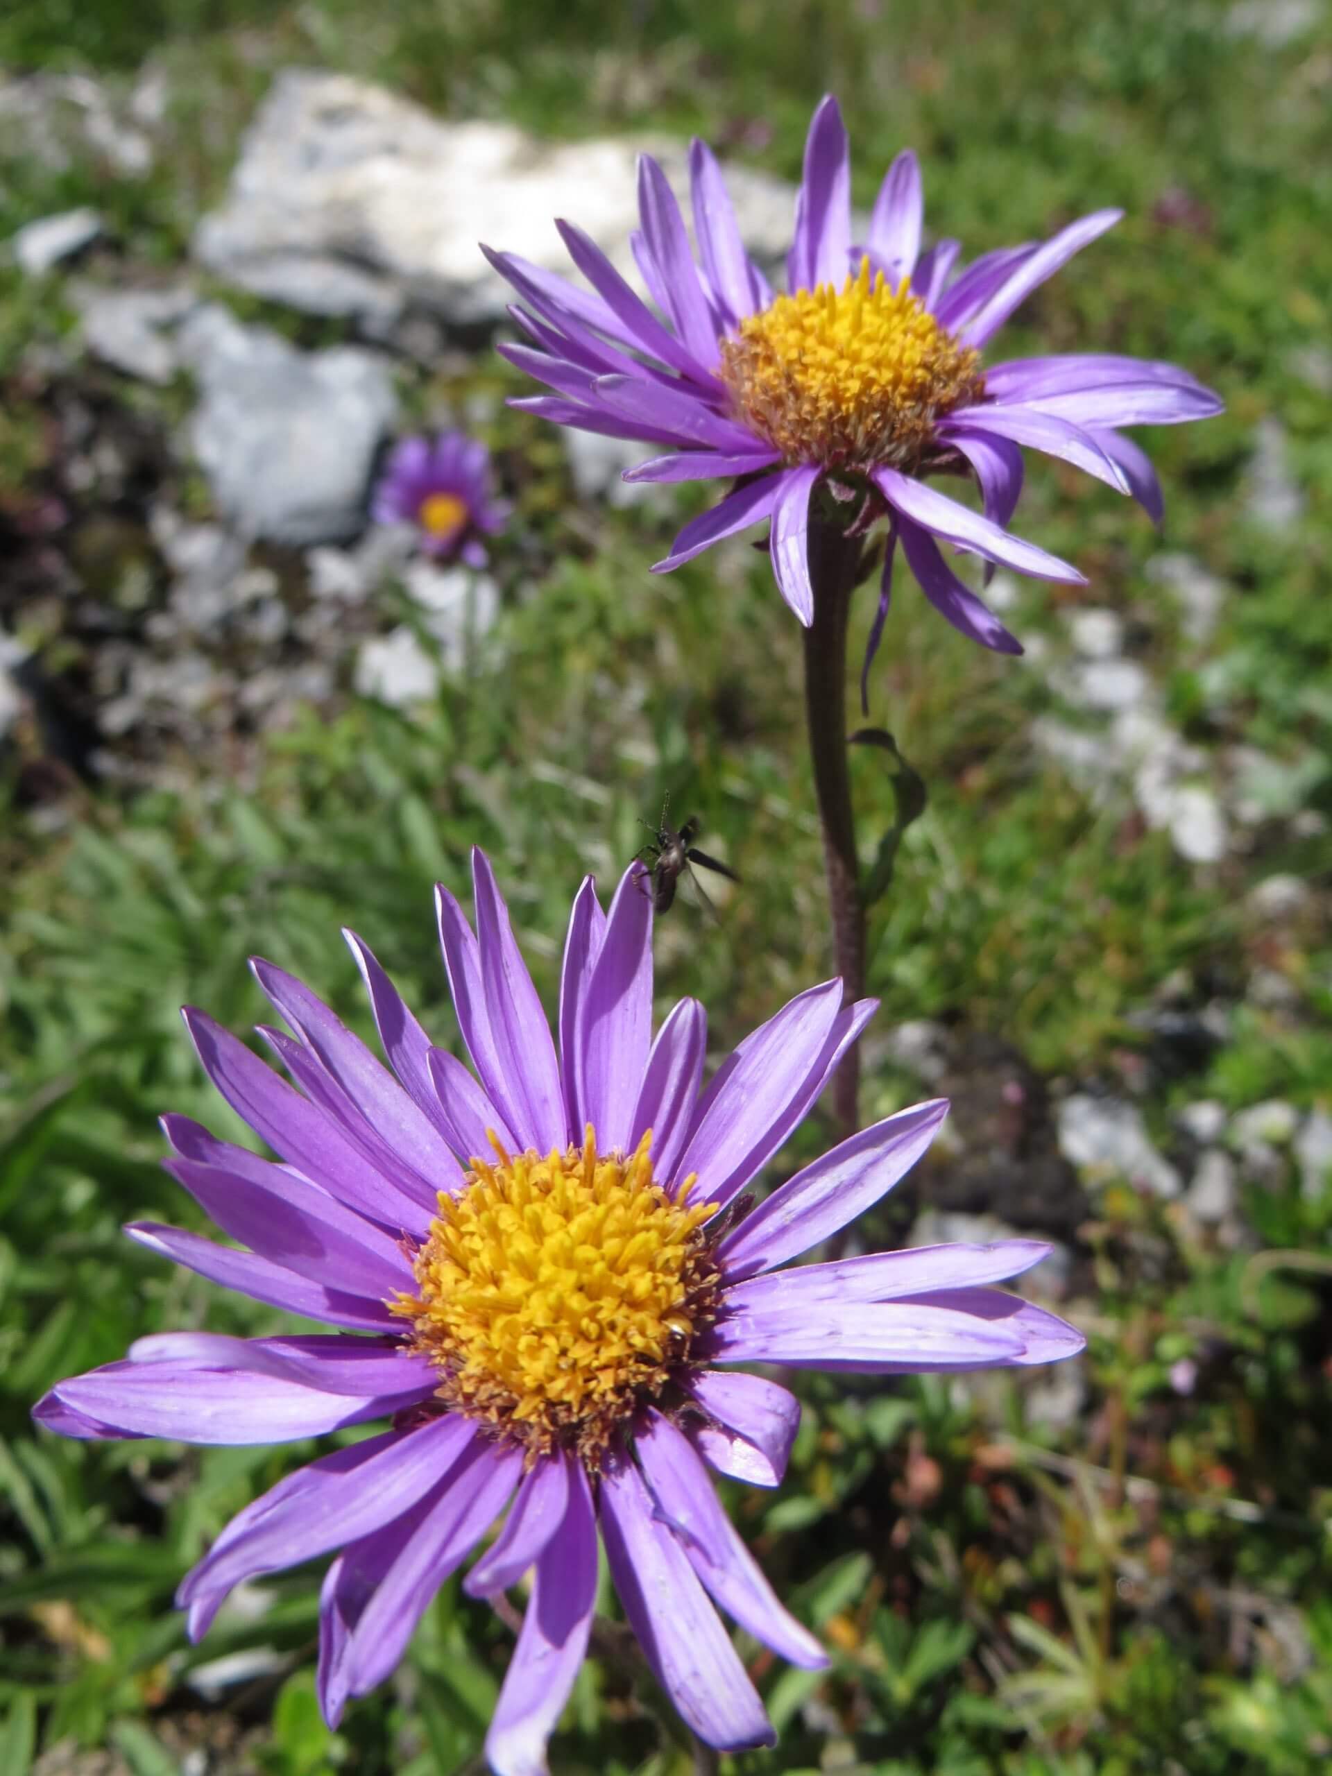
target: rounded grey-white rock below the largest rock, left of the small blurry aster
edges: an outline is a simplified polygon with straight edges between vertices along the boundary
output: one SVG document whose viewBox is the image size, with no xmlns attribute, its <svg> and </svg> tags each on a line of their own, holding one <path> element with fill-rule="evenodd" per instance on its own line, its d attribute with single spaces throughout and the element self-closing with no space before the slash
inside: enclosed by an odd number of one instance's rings
<svg viewBox="0 0 1332 1776">
<path fill-rule="evenodd" d="M 202 396 L 194 453 L 234 529 L 293 545 L 355 536 L 398 412 L 387 362 L 355 346 L 298 352 L 218 304 L 190 314 L 179 348 Z"/>
</svg>

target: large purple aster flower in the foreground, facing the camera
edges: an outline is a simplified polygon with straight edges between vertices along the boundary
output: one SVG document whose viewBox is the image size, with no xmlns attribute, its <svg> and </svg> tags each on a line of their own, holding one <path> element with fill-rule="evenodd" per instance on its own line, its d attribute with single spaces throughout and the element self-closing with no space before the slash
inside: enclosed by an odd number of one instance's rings
<svg viewBox="0 0 1332 1776">
<path fill-rule="evenodd" d="M 787 1389 L 735 1366 L 986 1369 L 1069 1357 L 1083 1339 L 995 1288 L 1048 1250 L 1028 1240 L 783 1268 L 877 1202 L 943 1121 L 941 1099 L 902 1110 L 749 1206 L 874 1000 L 844 1009 L 840 980 L 801 993 L 700 1090 L 703 1007 L 682 1000 L 652 1035 L 652 902 L 634 867 L 609 913 L 591 879 L 574 902 L 558 1044 L 481 852 L 474 886 L 476 931 L 439 890 L 474 1071 L 432 1046 L 352 934 L 389 1067 L 270 963 L 254 971 L 291 1034 L 259 1034 L 291 1083 L 185 1012 L 208 1076 L 279 1162 L 167 1115 L 167 1169 L 240 1247 L 128 1233 L 337 1330 L 146 1337 L 57 1384 L 36 1415 L 67 1437 L 201 1444 L 389 1419 L 247 1506 L 179 1590 L 197 1639 L 233 1586 L 332 1552 L 318 1677 L 330 1723 L 392 1671 L 435 1590 L 508 1513 L 465 1579 L 494 1597 L 533 1574 L 492 1769 L 545 1769 L 588 1646 L 599 1534 L 693 1732 L 771 1744 L 712 1602 L 785 1659 L 826 1661 L 712 1490 L 709 1469 L 776 1487 L 799 1421 Z"/>
</svg>

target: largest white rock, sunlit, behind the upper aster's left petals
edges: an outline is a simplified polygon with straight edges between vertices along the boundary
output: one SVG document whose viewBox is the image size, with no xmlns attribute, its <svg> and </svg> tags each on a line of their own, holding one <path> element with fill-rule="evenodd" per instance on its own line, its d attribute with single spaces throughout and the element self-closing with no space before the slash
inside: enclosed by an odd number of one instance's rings
<svg viewBox="0 0 1332 1776">
<path fill-rule="evenodd" d="M 384 87 L 286 69 L 250 124 L 226 202 L 195 256 L 258 295 L 380 325 L 408 304 L 492 325 L 513 300 L 478 242 L 568 274 L 567 215 L 638 281 L 638 149 L 687 188 L 684 144 L 538 142 L 506 123 L 444 123 Z M 741 234 L 762 259 L 787 250 L 792 188 L 726 172 Z M 684 204 L 686 215 L 689 204 Z"/>
</svg>

